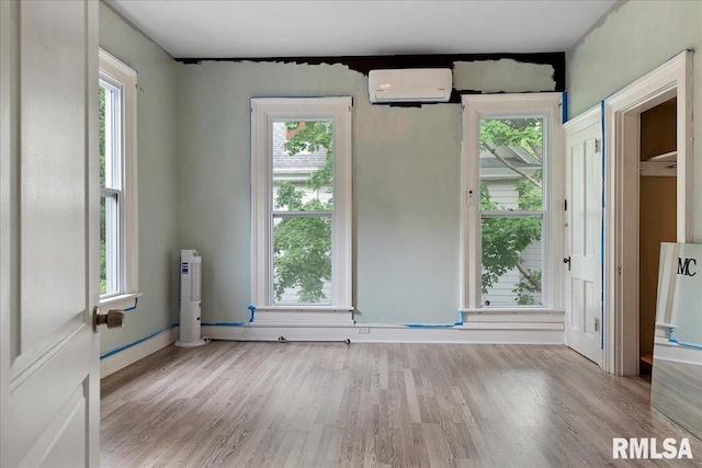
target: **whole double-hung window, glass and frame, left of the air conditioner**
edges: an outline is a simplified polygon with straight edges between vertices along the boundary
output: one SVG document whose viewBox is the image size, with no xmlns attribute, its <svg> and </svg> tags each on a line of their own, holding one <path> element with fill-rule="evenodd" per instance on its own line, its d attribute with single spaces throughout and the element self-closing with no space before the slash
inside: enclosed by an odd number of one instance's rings
<svg viewBox="0 0 702 468">
<path fill-rule="evenodd" d="M 351 306 L 351 99 L 251 100 L 257 309 Z"/>
</svg>

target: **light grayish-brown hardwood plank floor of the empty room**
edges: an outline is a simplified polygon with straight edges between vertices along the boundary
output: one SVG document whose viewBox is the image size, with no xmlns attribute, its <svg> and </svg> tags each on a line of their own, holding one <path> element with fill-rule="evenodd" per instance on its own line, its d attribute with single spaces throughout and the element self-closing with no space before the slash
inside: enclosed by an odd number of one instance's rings
<svg viewBox="0 0 702 468">
<path fill-rule="evenodd" d="M 102 381 L 105 467 L 650 466 L 612 437 L 689 437 L 650 385 L 565 346 L 169 346 Z M 661 450 L 661 448 L 659 449 Z"/>
</svg>

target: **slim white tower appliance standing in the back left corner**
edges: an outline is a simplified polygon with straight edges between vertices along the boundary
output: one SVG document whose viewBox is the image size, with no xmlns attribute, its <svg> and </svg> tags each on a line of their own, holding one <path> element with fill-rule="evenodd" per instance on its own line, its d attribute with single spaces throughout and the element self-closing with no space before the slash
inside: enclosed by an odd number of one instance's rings
<svg viewBox="0 0 702 468">
<path fill-rule="evenodd" d="M 196 250 L 180 251 L 180 327 L 176 346 L 205 344 L 200 335 L 200 288 L 202 256 Z"/>
</svg>

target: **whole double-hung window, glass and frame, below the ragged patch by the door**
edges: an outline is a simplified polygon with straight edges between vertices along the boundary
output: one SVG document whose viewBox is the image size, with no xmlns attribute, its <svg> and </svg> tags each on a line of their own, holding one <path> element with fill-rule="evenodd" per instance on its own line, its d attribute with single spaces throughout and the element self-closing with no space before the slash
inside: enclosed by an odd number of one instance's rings
<svg viewBox="0 0 702 468">
<path fill-rule="evenodd" d="M 561 301 L 559 106 L 555 93 L 463 96 L 463 309 Z"/>
</svg>

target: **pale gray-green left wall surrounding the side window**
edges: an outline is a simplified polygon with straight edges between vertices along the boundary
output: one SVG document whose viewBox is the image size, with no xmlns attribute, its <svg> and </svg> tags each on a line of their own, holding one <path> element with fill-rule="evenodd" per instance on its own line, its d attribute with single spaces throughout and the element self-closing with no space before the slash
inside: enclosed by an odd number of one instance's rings
<svg viewBox="0 0 702 468">
<path fill-rule="evenodd" d="M 101 331 L 101 352 L 105 352 L 177 320 L 178 171 L 176 62 L 103 2 L 100 47 L 138 72 L 139 290 L 144 294 L 127 313 L 124 329 Z"/>
</svg>

